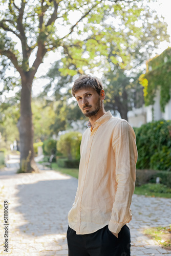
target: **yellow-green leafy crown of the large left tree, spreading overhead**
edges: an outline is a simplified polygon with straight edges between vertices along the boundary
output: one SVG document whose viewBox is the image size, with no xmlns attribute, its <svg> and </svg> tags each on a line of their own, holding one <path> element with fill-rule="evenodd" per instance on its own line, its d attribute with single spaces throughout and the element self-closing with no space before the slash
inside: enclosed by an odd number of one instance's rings
<svg viewBox="0 0 171 256">
<path fill-rule="evenodd" d="M 143 35 L 146 23 L 137 27 L 136 22 L 142 20 L 144 15 L 143 1 L 127 3 L 120 1 L 2 1 L 0 10 L 0 54 L 2 57 L 1 75 L 7 90 L 20 83 L 17 79 L 6 74 L 6 69 L 15 67 L 20 76 L 31 75 L 32 79 L 42 62 L 42 58 L 49 51 L 62 53 L 64 67 L 60 70 L 63 75 L 82 73 L 82 67 L 96 67 L 103 64 L 108 57 L 110 45 L 117 46 L 116 56 L 113 62 L 121 56 L 119 65 L 125 67 L 128 61 L 126 48 L 134 45 L 134 38 Z M 146 7 L 147 8 L 147 7 Z M 71 16 L 78 16 L 74 22 Z M 60 17 L 60 18 L 59 18 Z M 109 18 L 111 22 L 109 23 Z M 123 26 L 119 26 L 118 22 Z M 157 22 L 156 22 L 157 24 Z M 159 25 L 160 26 L 160 25 Z M 66 33 L 61 35 L 61 30 Z M 161 28 L 160 28 L 161 29 Z M 126 30 L 127 40 L 122 39 L 121 33 Z M 159 40 L 165 36 L 158 33 Z M 153 34 L 153 31 L 151 31 Z M 16 39 L 17 38 L 17 39 Z M 77 38 L 77 39 L 75 39 Z M 22 50 L 18 48 L 18 40 L 22 44 Z M 29 66 L 29 58 L 34 51 L 36 61 Z M 83 57 L 88 52 L 89 57 Z M 37 54 L 36 54 L 37 53 Z M 94 58 L 101 58 L 94 61 Z M 8 61 L 10 59 L 10 61 Z M 74 65 L 76 70 L 70 69 Z"/>
</svg>

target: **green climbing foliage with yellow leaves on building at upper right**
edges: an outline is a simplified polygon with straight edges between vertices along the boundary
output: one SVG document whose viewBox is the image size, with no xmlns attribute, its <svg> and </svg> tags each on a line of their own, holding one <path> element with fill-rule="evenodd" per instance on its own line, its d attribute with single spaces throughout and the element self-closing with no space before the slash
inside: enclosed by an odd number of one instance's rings
<svg viewBox="0 0 171 256">
<path fill-rule="evenodd" d="M 167 48 L 159 56 L 147 62 L 146 73 L 140 76 L 144 87 L 145 105 L 154 103 L 156 92 L 160 89 L 160 106 L 164 112 L 165 105 L 170 100 L 171 89 L 171 48 Z"/>
</svg>

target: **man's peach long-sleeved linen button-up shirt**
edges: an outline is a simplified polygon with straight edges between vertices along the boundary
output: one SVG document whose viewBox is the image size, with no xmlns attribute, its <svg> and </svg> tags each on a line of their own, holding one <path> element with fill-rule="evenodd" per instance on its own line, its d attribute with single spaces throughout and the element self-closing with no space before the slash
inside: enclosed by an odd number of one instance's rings
<svg viewBox="0 0 171 256">
<path fill-rule="evenodd" d="M 106 225 L 119 233 L 132 219 L 137 162 L 134 130 L 108 111 L 83 133 L 80 155 L 69 226 L 77 234 L 93 233 Z"/>
</svg>

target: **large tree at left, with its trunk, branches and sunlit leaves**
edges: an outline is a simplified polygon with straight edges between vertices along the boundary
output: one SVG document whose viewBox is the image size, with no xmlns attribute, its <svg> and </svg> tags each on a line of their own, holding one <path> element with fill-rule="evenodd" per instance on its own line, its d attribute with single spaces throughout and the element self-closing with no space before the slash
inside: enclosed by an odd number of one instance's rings
<svg viewBox="0 0 171 256">
<path fill-rule="evenodd" d="M 117 3 L 115 0 L 113 4 Z M 120 1 L 121 2 L 121 1 Z M 77 41 L 74 40 L 70 45 L 67 38 L 70 39 L 78 24 L 83 18 L 98 18 L 98 11 L 103 7 L 108 8 L 102 0 L 100 1 L 26 1 L 21 0 L 20 6 L 15 1 L 1 1 L 3 10 L 1 10 L 0 21 L 0 54 L 2 55 L 1 75 L 5 82 L 5 88 L 22 84 L 20 98 L 20 119 L 19 119 L 19 138 L 20 138 L 20 168 L 22 161 L 27 161 L 27 172 L 37 170 L 34 161 L 33 152 L 33 123 L 31 110 L 31 91 L 34 76 L 38 67 L 47 52 L 62 47 L 66 56 L 70 55 L 69 48 L 75 51 L 77 64 L 81 66 L 80 58 L 82 50 L 80 50 Z M 75 24 L 70 23 L 68 13 L 70 11 L 80 10 L 81 16 Z M 95 11 L 94 11 L 95 10 Z M 93 17 L 92 17 L 93 16 Z M 100 18 L 102 12 L 100 14 Z M 56 22 L 56 26 L 54 25 Z M 60 26 L 68 26 L 69 31 L 65 36 L 57 35 L 57 28 Z M 88 38 L 89 39 L 89 38 Z M 21 50 L 19 49 L 21 46 Z M 33 64 L 30 62 L 31 55 L 35 54 Z M 73 61 L 74 59 L 72 59 Z M 66 62 L 69 60 L 66 60 Z M 6 71 L 9 67 L 15 67 L 17 76 L 20 79 L 16 81 L 14 77 L 7 75 Z M 70 72 L 72 71 L 67 71 Z M 19 73 L 19 75 L 18 75 Z M 20 81 L 19 81 L 20 80 Z"/>
</svg>

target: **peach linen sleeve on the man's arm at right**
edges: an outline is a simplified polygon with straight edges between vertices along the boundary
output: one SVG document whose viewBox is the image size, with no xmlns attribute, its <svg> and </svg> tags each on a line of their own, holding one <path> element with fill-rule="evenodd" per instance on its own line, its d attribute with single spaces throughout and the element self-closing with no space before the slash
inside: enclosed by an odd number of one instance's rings
<svg viewBox="0 0 171 256">
<path fill-rule="evenodd" d="M 135 189 L 137 162 L 134 130 L 126 121 L 122 121 L 118 126 L 118 132 L 114 133 L 112 141 L 117 189 L 109 229 L 114 233 L 119 233 L 122 226 L 132 219 L 130 206 Z"/>
</svg>

